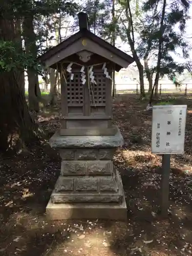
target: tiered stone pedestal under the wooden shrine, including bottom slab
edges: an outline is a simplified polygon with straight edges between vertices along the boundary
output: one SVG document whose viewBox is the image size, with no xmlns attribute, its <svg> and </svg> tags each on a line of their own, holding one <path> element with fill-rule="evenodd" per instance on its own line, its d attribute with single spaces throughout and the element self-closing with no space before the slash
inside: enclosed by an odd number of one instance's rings
<svg viewBox="0 0 192 256">
<path fill-rule="evenodd" d="M 126 220 L 126 203 L 113 155 L 123 138 L 117 129 L 108 136 L 61 136 L 50 139 L 58 148 L 61 173 L 46 212 L 51 219 Z"/>
</svg>

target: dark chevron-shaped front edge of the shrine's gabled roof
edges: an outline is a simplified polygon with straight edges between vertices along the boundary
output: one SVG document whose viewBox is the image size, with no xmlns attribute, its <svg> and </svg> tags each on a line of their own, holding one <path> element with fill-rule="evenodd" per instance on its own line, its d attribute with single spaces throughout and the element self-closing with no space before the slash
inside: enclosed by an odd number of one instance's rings
<svg viewBox="0 0 192 256">
<path fill-rule="evenodd" d="M 78 39 L 80 39 L 82 37 L 86 37 L 86 38 L 89 38 L 89 39 L 93 40 L 98 45 L 102 46 L 106 50 L 109 50 L 113 54 L 116 54 L 117 56 L 119 56 L 120 58 L 126 60 L 130 64 L 135 61 L 133 57 L 131 57 L 130 55 L 128 55 L 128 54 L 126 54 L 124 52 L 122 52 L 121 50 L 117 49 L 116 47 L 112 46 L 111 44 L 109 44 L 109 42 L 106 42 L 105 40 L 103 40 L 100 37 L 96 36 L 95 34 L 93 34 L 89 30 L 80 30 L 79 32 L 77 32 L 74 35 L 72 35 L 69 38 L 67 38 L 66 40 L 62 41 L 59 45 L 51 48 L 46 53 L 44 53 L 43 55 L 39 56 L 38 59 L 41 62 L 45 62 L 46 60 L 48 60 L 52 56 L 54 56 L 57 53 L 59 53 L 61 50 L 64 50 L 68 46 L 73 44 L 74 41 L 76 41 L 76 40 L 78 40 Z"/>
</svg>

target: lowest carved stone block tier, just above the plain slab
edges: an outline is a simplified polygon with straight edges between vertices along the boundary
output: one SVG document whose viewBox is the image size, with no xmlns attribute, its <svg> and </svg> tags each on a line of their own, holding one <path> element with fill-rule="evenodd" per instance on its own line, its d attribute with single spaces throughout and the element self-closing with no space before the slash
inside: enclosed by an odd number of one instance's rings
<svg viewBox="0 0 192 256">
<path fill-rule="evenodd" d="M 71 192 L 70 192 L 71 190 Z M 58 178 L 51 195 L 52 203 L 116 203 L 122 202 L 121 178 L 74 177 Z"/>
</svg>

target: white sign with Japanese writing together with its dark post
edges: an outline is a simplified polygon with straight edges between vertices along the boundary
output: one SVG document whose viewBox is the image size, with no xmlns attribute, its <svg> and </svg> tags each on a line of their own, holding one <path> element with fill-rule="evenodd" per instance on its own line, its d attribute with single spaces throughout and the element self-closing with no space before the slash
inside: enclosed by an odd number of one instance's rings
<svg viewBox="0 0 192 256">
<path fill-rule="evenodd" d="M 153 106 L 152 153 L 162 155 L 161 213 L 169 206 L 170 155 L 184 153 L 186 105 Z"/>
</svg>

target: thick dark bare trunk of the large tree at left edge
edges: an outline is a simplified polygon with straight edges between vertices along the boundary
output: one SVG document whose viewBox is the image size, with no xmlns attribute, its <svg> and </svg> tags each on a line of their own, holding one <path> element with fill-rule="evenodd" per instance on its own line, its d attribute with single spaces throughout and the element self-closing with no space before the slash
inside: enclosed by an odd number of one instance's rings
<svg viewBox="0 0 192 256">
<path fill-rule="evenodd" d="M 15 40 L 13 20 L 0 18 L 0 27 L 0 40 Z M 20 147 L 21 142 L 29 142 L 36 134 L 36 124 L 28 110 L 20 74 L 19 70 L 0 72 L 0 148 L 4 152 Z"/>
</svg>

